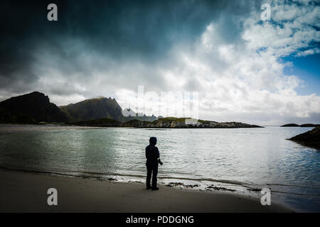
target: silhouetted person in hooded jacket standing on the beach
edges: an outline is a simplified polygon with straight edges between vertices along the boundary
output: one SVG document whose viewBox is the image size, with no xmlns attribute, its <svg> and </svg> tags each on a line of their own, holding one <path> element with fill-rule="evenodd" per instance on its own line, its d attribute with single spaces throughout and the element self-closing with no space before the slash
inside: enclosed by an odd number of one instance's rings
<svg viewBox="0 0 320 227">
<path fill-rule="evenodd" d="M 159 190 L 156 187 L 156 175 L 158 175 L 158 163 L 162 165 L 159 159 L 159 150 L 156 147 L 156 137 L 150 137 L 150 144 L 146 146 L 146 189 Z M 152 187 L 150 184 L 152 175 Z"/>
</svg>

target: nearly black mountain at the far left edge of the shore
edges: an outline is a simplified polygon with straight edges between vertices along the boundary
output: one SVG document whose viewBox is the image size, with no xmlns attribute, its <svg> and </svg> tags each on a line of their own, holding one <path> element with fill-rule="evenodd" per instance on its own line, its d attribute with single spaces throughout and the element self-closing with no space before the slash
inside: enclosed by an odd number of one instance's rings
<svg viewBox="0 0 320 227">
<path fill-rule="evenodd" d="M 0 102 L 2 123 L 68 123 L 68 116 L 58 106 L 50 103 L 48 96 L 32 92 Z"/>
</svg>

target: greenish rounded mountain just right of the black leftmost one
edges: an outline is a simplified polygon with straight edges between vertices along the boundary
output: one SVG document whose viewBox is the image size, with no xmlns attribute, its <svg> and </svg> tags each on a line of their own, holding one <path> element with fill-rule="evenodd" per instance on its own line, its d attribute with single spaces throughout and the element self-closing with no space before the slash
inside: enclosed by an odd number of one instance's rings
<svg viewBox="0 0 320 227">
<path fill-rule="evenodd" d="M 122 108 L 117 101 L 106 97 L 86 99 L 76 104 L 60 106 L 60 109 L 68 115 L 71 122 L 91 121 L 101 118 L 110 118 L 119 122 L 133 119 L 141 121 L 154 121 L 157 119 L 156 116 L 137 116 L 131 109 L 124 109 L 124 113 L 127 111 L 127 114 L 122 114 Z"/>
</svg>

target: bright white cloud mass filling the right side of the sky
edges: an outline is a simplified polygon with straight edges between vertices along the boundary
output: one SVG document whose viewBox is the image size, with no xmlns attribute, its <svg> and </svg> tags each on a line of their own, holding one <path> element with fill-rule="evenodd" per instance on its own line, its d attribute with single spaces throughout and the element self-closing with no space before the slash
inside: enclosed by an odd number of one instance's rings
<svg viewBox="0 0 320 227">
<path fill-rule="evenodd" d="M 319 21 L 319 7 L 283 3 L 272 2 L 273 22 L 259 23 L 259 11 L 245 18 L 239 43 L 225 44 L 216 29 L 221 25 L 210 23 L 194 48 L 173 50 L 176 65 L 164 78 L 176 90 L 185 90 L 188 79 L 199 83 L 202 118 L 233 121 L 247 114 L 245 121 L 265 124 L 320 114 L 320 97 L 297 94 L 303 81 L 299 75 L 284 75 L 292 62 L 279 62 L 282 56 L 319 52 L 308 49 L 320 41 L 320 32 L 312 28 Z"/>
</svg>

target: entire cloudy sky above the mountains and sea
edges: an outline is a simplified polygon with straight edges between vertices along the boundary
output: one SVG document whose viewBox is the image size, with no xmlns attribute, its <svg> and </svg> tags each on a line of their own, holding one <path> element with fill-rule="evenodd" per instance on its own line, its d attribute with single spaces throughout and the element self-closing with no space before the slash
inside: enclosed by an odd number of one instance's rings
<svg viewBox="0 0 320 227">
<path fill-rule="evenodd" d="M 0 101 L 39 91 L 58 106 L 107 96 L 145 114 L 320 123 L 319 1 L 1 1 L 0 19 Z"/>
</svg>

